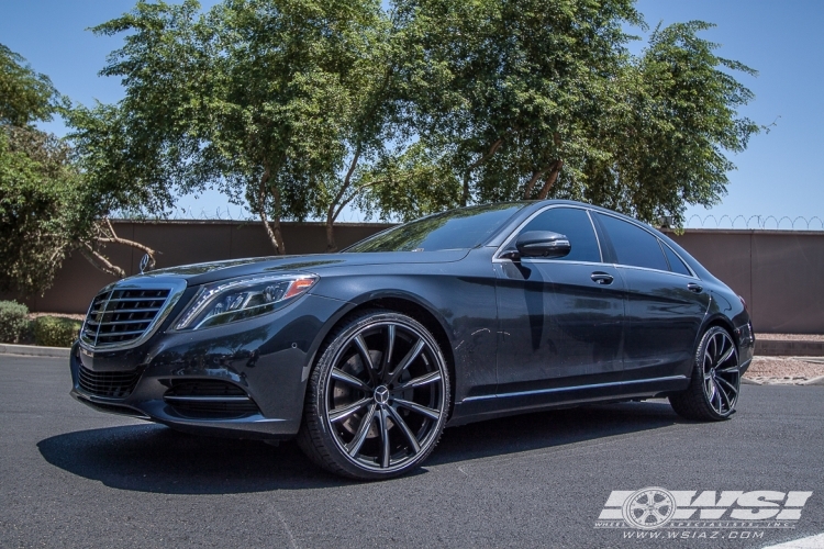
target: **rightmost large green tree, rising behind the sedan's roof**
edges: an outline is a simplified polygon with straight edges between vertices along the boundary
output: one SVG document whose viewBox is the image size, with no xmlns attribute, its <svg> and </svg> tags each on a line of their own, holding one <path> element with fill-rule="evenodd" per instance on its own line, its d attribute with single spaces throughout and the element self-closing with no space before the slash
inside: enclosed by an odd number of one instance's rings
<svg viewBox="0 0 824 549">
<path fill-rule="evenodd" d="M 759 130 L 738 116 L 753 94 L 732 76 L 754 72 L 697 36 L 706 23 L 656 29 L 633 56 L 624 29 L 646 29 L 633 0 L 396 7 L 407 121 L 450 166 L 447 187 L 461 186 L 456 201 L 441 193 L 443 206 L 571 198 L 678 226 L 687 204 L 720 200 L 727 155 Z M 414 204 L 398 200 L 413 188 L 376 188 L 363 202 L 387 216 Z"/>
</svg>

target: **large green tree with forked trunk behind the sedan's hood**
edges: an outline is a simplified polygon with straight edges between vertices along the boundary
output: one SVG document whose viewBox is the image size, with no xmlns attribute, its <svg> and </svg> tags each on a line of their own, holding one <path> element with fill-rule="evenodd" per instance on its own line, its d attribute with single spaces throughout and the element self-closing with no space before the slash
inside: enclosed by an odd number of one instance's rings
<svg viewBox="0 0 824 549">
<path fill-rule="evenodd" d="M 94 29 L 129 32 L 102 71 L 126 90 L 113 107 L 122 157 L 146 181 L 245 200 L 278 253 L 280 222 L 310 215 L 334 249 L 335 220 L 377 184 L 361 179 L 391 138 L 389 29 L 375 0 L 226 0 L 207 13 L 141 1 Z M 102 107 L 90 114 L 105 124 Z"/>
</svg>

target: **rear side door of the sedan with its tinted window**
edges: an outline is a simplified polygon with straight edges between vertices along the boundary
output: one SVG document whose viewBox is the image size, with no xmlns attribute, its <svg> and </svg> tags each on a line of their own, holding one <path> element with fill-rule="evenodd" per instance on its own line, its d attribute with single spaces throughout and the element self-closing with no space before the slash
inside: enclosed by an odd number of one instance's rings
<svg viewBox="0 0 824 549">
<path fill-rule="evenodd" d="M 627 290 L 624 379 L 688 372 L 710 304 L 709 293 L 654 233 L 613 215 L 593 215 L 604 249 L 617 264 Z"/>
</svg>

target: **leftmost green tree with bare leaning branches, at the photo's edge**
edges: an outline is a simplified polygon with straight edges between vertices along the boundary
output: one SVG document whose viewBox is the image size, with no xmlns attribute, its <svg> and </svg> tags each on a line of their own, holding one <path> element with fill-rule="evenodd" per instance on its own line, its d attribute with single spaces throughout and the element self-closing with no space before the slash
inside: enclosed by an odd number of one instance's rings
<svg viewBox="0 0 824 549">
<path fill-rule="evenodd" d="M 24 295 L 51 287 L 65 257 L 75 249 L 107 272 L 124 270 L 102 254 L 107 243 L 154 250 L 119 238 L 108 216 L 130 205 L 152 206 L 140 182 L 101 187 L 87 177 L 68 142 L 36 128 L 55 114 L 77 117 L 69 101 L 23 57 L 0 45 L 0 288 Z M 110 133 L 109 133 L 110 135 Z M 102 144 L 101 148 L 109 149 Z M 96 161 L 100 164 L 100 155 Z"/>
</svg>

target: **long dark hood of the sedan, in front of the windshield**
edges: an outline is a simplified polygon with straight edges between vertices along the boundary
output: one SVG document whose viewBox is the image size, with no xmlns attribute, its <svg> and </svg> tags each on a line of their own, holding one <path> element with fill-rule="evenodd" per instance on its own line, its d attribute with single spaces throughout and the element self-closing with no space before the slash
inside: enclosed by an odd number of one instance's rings
<svg viewBox="0 0 824 549">
<path fill-rule="evenodd" d="M 125 280 L 154 278 L 182 278 L 187 285 L 198 285 L 246 274 L 260 274 L 278 271 L 315 272 L 339 267 L 359 265 L 398 265 L 398 264 L 444 264 L 464 259 L 468 249 L 446 249 L 441 251 L 380 251 L 380 253 L 338 253 L 307 254 L 303 256 L 249 257 L 229 259 L 207 264 L 181 265 L 130 277 Z"/>
</svg>

